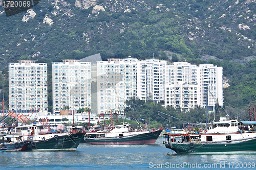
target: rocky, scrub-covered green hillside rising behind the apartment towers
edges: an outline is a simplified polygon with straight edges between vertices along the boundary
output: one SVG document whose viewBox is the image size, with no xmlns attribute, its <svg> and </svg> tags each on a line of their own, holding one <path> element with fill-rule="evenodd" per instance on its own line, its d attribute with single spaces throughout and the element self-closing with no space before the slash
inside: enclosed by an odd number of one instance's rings
<svg viewBox="0 0 256 170">
<path fill-rule="evenodd" d="M 233 60 L 256 53 L 255 2 L 99 0 L 105 11 L 94 14 L 94 6 L 80 9 L 74 1 L 66 2 L 70 5 L 41 1 L 28 22 L 21 21 L 26 12 L 0 15 L 1 65 L 22 56 L 57 60 L 100 53 L 103 59 L 145 59 L 154 53 L 167 59 L 163 52 L 169 51 L 185 59 L 211 55 Z M 46 16 L 53 25 L 43 23 Z"/>
</svg>

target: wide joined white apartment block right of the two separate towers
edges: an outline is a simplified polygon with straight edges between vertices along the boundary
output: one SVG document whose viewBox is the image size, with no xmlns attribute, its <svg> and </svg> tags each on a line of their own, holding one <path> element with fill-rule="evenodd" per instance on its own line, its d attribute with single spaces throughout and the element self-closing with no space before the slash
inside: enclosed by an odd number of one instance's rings
<svg viewBox="0 0 256 170">
<path fill-rule="evenodd" d="M 125 100 L 132 96 L 185 110 L 206 107 L 206 89 L 209 110 L 215 110 L 217 101 L 223 105 L 222 67 L 212 64 L 108 59 L 99 61 L 97 69 L 98 113 L 112 109 L 122 112 Z"/>
</svg>

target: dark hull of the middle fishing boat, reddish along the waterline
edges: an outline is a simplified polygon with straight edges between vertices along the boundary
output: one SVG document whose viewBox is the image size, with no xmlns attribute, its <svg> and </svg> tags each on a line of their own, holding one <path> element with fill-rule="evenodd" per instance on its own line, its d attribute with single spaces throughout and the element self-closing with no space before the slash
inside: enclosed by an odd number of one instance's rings
<svg viewBox="0 0 256 170">
<path fill-rule="evenodd" d="M 131 135 L 126 137 L 113 137 L 113 138 L 86 138 L 81 142 L 91 144 L 155 144 L 157 138 L 162 130 L 154 132 L 141 133 L 138 135 Z"/>
</svg>

